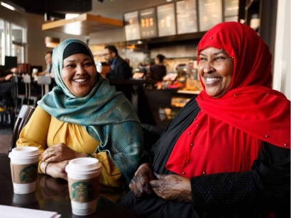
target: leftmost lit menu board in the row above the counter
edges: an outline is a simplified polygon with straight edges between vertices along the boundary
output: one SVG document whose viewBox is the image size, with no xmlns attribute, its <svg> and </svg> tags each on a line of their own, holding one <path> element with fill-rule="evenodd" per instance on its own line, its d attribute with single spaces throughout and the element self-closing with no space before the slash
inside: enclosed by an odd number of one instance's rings
<svg viewBox="0 0 291 218">
<path fill-rule="evenodd" d="M 141 33 L 139 32 L 138 11 L 124 13 L 126 40 L 139 40 Z"/>
</svg>

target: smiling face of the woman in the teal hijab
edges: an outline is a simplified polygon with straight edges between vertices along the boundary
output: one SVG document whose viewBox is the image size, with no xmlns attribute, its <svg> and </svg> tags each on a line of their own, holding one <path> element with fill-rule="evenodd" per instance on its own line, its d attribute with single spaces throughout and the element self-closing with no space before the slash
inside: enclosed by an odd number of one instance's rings
<svg viewBox="0 0 291 218">
<path fill-rule="evenodd" d="M 87 96 L 95 84 L 96 74 L 95 64 L 86 54 L 72 54 L 64 59 L 62 81 L 74 96 Z"/>
</svg>

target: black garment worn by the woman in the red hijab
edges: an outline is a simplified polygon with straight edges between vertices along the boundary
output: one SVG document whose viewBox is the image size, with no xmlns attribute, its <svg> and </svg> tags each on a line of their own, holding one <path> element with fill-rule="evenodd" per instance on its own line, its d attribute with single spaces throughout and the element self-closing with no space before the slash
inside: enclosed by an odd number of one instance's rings
<svg viewBox="0 0 291 218">
<path fill-rule="evenodd" d="M 199 113 L 194 98 L 170 122 L 153 150 L 141 157 L 154 172 L 165 168 L 180 134 Z M 290 149 L 263 142 L 250 171 L 216 173 L 190 179 L 192 202 L 165 201 L 156 195 L 138 199 L 129 192 L 121 205 L 145 217 L 261 217 L 263 212 L 290 214 Z M 289 215 L 290 217 L 290 215 Z"/>
</svg>

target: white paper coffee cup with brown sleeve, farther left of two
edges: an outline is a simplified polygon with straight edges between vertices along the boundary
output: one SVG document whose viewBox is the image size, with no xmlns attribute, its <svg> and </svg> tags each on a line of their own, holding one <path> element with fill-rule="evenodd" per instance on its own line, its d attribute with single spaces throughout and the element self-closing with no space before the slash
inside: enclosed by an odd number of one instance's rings
<svg viewBox="0 0 291 218">
<path fill-rule="evenodd" d="M 14 193 L 28 194 L 35 191 L 39 156 L 37 147 L 18 147 L 9 153 Z"/>
</svg>

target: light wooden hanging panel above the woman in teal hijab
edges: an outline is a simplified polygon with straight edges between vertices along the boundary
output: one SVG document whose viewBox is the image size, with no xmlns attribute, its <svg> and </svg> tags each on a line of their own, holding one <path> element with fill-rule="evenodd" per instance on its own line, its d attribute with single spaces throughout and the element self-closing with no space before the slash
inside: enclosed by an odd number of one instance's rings
<svg viewBox="0 0 291 218">
<path fill-rule="evenodd" d="M 122 27 L 123 21 L 83 13 L 76 18 L 43 23 L 42 29 L 72 35 L 89 35 L 90 33 Z"/>
</svg>

